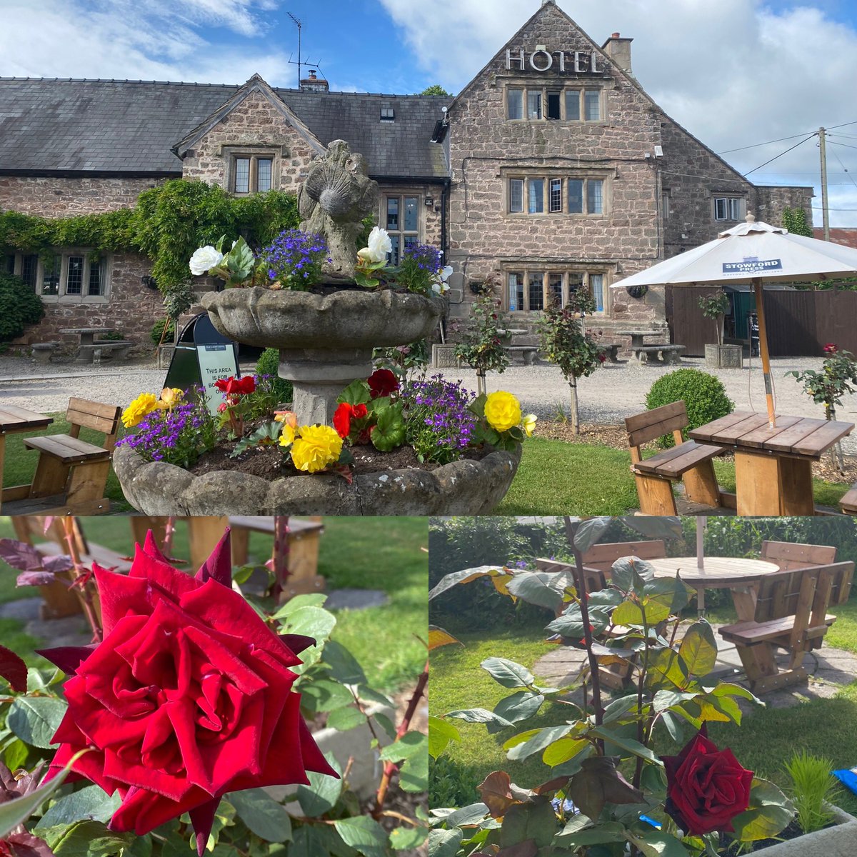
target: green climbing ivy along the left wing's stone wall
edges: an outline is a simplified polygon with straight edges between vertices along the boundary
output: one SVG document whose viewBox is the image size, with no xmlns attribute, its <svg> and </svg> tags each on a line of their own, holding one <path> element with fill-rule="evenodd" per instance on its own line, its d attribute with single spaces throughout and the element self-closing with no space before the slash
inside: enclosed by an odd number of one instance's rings
<svg viewBox="0 0 857 857">
<path fill-rule="evenodd" d="M 189 281 L 188 261 L 203 244 L 241 235 L 263 247 L 299 221 L 297 199 L 284 191 L 234 197 L 217 185 L 176 178 L 144 191 L 134 208 L 68 218 L 0 212 L 0 251 L 92 247 L 141 253 L 153 261 L 153 277 L 169 295 Z"/>
</svg>

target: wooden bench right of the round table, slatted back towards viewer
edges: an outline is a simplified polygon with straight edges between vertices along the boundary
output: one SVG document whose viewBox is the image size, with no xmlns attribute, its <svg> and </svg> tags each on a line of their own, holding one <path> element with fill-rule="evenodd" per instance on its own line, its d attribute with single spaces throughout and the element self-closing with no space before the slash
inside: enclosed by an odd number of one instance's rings
<svg viewBox="0 0 857 857">
<path fill-rule="evenodd" d="M 836 620 L 827 609 L 848 600 L 853 578 L 854 562 L 836 562 L 774 572 L 761 580 L 756 618 L 719 630 L 723 639 L 735 644 L 752 692 L 806 681 L 804 655 L 821 647 Z M 784 672 L 774 657 L 777 647 L 790 653 Z"/>
</svg>

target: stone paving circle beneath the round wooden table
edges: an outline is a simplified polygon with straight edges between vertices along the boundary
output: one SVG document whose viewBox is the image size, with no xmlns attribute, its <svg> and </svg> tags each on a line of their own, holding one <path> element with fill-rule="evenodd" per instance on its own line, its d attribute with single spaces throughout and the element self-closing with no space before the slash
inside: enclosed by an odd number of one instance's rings
<svg viewBox="0 0 857 857">
<path fill-rule="evenodd" d="M 717 626 L 714 627 L 716 630 Z M 726 644 L 719 637 L 717 642 L 719 646 L 716 677 L 720 680 L 746 684 L 740 658 L 734 645 Z M 585 661 L 585 650 L 557 645 L 536 661 L 532 671 L 546 684 L 562 686 L 572 681 Z M 780 668 L 786 668 L 788 655 L 781 652 L 776 656 L 776 661 Z M 835 696 L 843 685 L 850 684 L 857 679 L 857 655 L 842 649 L 831 648 L 828 645 L 824 645 L 819 650 L 808 652 L 804 656 L 804 667 L 809 673 L 809 681 L 806 685 L 796 684 L 764 693 L 761 697 L 764 703 L 771 708 L 788 708 L 809 699 L 829 699 Z M 615 692 L 615 695 L 621 694 Z M 578 692 L 572 694 L 572 699 L 576 696 L 579 696 Z M 752 711 L 756 707 L 743 699 L 739 700 L 739 704 L 741 709 L 745 711 Z"/>
</svg>

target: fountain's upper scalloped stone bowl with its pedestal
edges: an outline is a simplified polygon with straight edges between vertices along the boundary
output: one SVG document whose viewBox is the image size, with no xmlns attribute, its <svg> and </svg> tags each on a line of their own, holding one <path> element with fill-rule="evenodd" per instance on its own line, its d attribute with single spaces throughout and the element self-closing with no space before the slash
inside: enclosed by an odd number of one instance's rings
<svg viewBox="0 0 857 857">
<path fill-rule="evenodd" d="M 336 398 L 372 373 L 372 349 L 428 336 L 443 315 L 440 297 L 346 288 L 211 291 L 202 305 L 220 333 L 244 345 L 279 348 L 279 375 L 294 386 L 302 425 L 330 423 Z"/>
</svg>

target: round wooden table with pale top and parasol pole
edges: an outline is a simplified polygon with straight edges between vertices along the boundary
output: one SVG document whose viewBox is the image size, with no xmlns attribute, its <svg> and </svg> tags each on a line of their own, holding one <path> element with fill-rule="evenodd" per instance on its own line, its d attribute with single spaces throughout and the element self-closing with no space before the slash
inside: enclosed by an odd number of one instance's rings
<svg viewBox="0 0 857 857">
<path fill-rule="evenodd" d="M 655 569 L 656 578 L 680 578 L 697 590 L 697 612 L 705 613 L 705 590 L 728 589 L 732 594 L 739 620 L 752 620 L 756 610 L 754 586 L 766 574 L 778 572 L 780 566 L 767 560 L 748 560 L 744 557 L 706 556 L 700 568 L 695 556 L 668 556 L 646 560 Z"/>
</svg>

